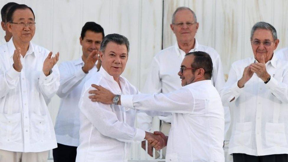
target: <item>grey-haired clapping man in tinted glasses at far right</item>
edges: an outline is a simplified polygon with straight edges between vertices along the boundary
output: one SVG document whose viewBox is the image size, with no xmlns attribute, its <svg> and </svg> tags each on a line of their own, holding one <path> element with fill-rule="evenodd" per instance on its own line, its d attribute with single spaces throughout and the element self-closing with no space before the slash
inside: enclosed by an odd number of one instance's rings
<svg viewBox="0 0 288 162">
<path fill-rule="evenodd" d="M 276 29 L 257 22 L 251 30 L 254 57 L 231 66 L 221 98 L 230 107 L 229 154 L 234 162 L 287 161 L 288 68 L 277 59 Z"/>
</svg>

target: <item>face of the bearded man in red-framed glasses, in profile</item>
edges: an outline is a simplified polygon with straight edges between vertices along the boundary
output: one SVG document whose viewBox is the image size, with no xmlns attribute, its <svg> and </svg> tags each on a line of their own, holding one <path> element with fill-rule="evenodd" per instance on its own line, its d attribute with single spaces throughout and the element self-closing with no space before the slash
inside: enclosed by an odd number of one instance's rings
<svg viewBox="0 0 288 162">
<path fill-rule="evenodd" d="M 193 56 L 193 55 L 185 56 L 182 63 L 181 63 L 181 67 L 191 68 L 191 64 L 194 61 L 194 57 L 195 56 Z M 186 86 L 188 84 L 193 83 L 195 80 L 195 73 L 196 72 L 197 72 L 197 70 L 192 72 L 191 69 L 183 70 L 183 73 L 181 73 L 181 71 L 179 71 L 178 75 L 180 76 L 180 79 L 181 79 L 181 85 Z"/>
</svg>

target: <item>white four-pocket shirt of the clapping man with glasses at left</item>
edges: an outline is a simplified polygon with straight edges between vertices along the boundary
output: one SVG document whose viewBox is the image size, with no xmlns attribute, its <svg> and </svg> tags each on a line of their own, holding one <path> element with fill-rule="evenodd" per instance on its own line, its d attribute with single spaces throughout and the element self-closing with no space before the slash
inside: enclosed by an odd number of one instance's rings
<svg viewBox="0 0 288 162">
<path fill-rule="evenodd" d="M 30 42 L 22 70 L 13 68 L 12 39 L 1 46 L 1 149 L 42 152 L 57 147 L 53 123 L 47 108 L 59 87 L 55 65 L 50 75 L 42 71 L 49 51 Z"/>
</svg>

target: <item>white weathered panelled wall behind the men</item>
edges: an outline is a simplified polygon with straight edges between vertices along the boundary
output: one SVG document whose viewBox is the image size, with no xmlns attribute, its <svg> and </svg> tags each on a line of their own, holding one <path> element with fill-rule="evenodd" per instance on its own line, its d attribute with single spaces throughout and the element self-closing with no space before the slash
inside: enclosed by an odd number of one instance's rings
<svg viewBox="0 0 288 162">
<path fill-rule="evenodd" d="M 1 0 L 0 6 L 7 0 Z M 33 42 L 53 53 L 60 52 L 58 65 L 81 55 L 79 37 L 87 21 L 104 28 L 105 35 L 119 33 L 130 41 L 128 63 L 123 76 L 140 90 L 153 56 L 174 45 L 171 16 L 178 6 L 188 6 L 197 15 L 197 40 L 220 54 L 224 73 L 235 60 L 253 55 L 250 30 L 258 21 L 271 23 L 278 32 L 278 49 L 288 46 L 287 0 L 15 0 L 35 12 Z M 163 21 L 163 23 L 162 23 Z M 163 27 L 162 27 L 163 25 Z M 4 36 L 3 30 L 0 32 Z M 169 58 L 167 58 L 169 59 Z M 167 65 L 168 66 L 168 65 Z M 53 97 L 49 110 L 53 122 L 59 98 Z"/>
</svg>

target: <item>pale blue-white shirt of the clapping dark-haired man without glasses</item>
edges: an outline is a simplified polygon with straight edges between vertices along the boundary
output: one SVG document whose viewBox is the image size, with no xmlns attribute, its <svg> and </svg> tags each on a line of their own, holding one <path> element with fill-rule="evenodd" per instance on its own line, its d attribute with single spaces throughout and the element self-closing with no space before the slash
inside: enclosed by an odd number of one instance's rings
<svg viewBox="0 0 288 162">
<path fill-rule="evenodd" d="M 97 62 L 96 62 L 97 63 Z M 60 87 L 56 94 L 61 98 L 58 115 L 55 122 L 57 143 L 68 146 L 79 145 L 79 99 L 86 80 L 97 72 L 96 65 L 84 73 L 82 58 L 66 61 L 60 64 Z"/>
</svg>

